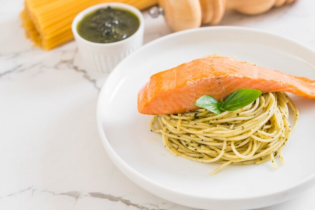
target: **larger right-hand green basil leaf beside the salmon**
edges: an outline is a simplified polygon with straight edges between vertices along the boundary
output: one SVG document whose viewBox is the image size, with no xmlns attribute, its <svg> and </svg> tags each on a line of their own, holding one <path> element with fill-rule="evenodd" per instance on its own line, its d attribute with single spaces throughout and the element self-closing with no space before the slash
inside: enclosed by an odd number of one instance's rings
<svg viewBox="0 0 315 210">
<path fill-rule="evenodd" d="M 226 111 L 241 109 L 254 102 L 261 94 L 261 91 L 255 89 L 239 89 L 224 99 L 223 109 Z"/>
</svg>

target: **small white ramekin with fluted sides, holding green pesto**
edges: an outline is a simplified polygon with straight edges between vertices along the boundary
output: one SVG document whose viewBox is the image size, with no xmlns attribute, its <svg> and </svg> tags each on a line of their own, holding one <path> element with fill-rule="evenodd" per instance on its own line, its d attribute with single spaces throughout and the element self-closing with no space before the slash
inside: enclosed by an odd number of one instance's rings
<svg viewBox="0 0 315 210">
<path fill-rule="evenodd" d="M 112 43 L 95 43 L 82 38 L 77 33 L 77 24 L 91 12 L 108 6 L 128 10 L 134 13 L 140 21 L 138 30 L 128 38 Z M 108 73 L 113 70 L 124 57 L 141 47 L 143 43 L 144 19 L 142 13 L 130 5 L 122 3 L 104 3 L 87 8 L 77 14 L 72 22 L 71 28 L 78 50 L 86 65 L 86 69 L 93 72 Z"/>
</svg>

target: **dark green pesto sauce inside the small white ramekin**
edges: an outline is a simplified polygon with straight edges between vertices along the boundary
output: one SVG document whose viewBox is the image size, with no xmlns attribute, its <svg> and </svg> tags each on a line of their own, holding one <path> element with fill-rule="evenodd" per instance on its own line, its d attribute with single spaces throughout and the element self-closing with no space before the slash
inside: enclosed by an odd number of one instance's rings
<svg viewBox="0 0 315 210">
<path fill-rule="evenodd" d="M 86 15 L 77 25 L 78 34 L 96 43 L 111 43 L 126 39 L 139 28 L 138 17 L 130 11 L 101 8 Z"/>
</svg>

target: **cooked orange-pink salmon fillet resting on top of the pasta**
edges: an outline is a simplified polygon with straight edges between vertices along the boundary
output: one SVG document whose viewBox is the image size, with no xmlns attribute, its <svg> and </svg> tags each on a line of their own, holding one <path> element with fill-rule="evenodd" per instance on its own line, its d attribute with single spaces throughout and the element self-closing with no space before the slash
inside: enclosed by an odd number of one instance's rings
<svg viewBox="0 0 315 210">
<path fill-rule="evenodd" d="M 211 56 L 152 75 L 138 93 L 138 111 L 146 115 L 185 113 L 208 94 L 217 100 L 241 89 L 287 91 L 315 99 L 315 81 L 229 57 Z"/>
</svg>

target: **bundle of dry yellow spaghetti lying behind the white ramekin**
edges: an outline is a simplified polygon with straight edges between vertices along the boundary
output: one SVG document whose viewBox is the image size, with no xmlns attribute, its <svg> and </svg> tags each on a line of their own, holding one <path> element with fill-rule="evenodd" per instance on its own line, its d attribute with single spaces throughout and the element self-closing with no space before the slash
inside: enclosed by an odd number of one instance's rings
<svg viewBox="0 0 315 210">
<path fill-rule="evenodd" d="M 142 10 L 157 0 L 25 0 L 20 15 L 22 26 L 36 46 L 50 50 L 73 39 L 71 23 L 78 13 L 106 2 L 125 3 Z"/>
</svg>

